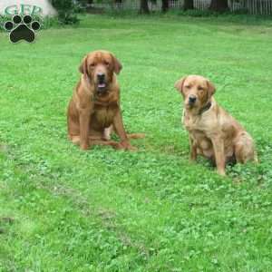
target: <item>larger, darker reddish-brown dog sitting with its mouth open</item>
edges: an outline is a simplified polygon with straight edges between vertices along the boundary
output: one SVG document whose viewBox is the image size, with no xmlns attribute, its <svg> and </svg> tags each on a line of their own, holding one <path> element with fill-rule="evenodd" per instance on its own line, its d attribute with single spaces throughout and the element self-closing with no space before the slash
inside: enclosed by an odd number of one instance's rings
<svg viewBox="0 0 272 272">
<path fill-rule="evenodd" d="M 94 51 L 83 58 L 79 71 L 82 75 L 67 111 L 69 139 L 82 150 L 93 144 L 135 150 L 129 139 L 144 135 L 128 135 L 124 130 L 116 79 L 121 72 L 120 61 L 110 52 Z M 112 131 L 120 137 L 120 142 L 111 140 Z"/>
</svg>

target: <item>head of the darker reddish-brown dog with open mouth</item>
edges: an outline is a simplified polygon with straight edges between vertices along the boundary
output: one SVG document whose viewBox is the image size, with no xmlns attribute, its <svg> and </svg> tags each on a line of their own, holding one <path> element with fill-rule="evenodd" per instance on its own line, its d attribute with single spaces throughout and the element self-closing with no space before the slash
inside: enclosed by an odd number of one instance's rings
<svg viewBox="0 0 272 272">
<path fill-rule="evenodd" d="M 113 73 L 120 73 L 121 63 L 110 52 L 94 51 L 83 58 L 79 71 L 89 78 L 96 92 L 103 94 L 112 83 Z"/>
</svg>

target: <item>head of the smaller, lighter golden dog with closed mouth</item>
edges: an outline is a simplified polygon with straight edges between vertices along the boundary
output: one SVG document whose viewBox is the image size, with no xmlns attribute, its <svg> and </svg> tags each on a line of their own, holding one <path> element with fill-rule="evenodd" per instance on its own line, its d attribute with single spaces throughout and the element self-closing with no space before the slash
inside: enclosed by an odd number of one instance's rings
<svg viewBox="0 0 272 272">
<path fill-rule="evenodd" d="M 188 110 L 200 110 L 216 91 L 213 83 L 200 75 L 185 76 L 175 83 L 175 87 L 181 92 Z"/>
</svg>

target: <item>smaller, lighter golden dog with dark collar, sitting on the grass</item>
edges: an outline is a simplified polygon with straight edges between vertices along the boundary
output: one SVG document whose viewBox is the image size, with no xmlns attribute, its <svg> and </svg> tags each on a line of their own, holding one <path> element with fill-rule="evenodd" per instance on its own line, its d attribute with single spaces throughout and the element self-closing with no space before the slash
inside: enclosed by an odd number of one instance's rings
<svg viewBox="0 0 272 272">
<path fill-rule="evenodd" d="M 228 162 L 257 162 L 251 136 L 215 101 L 213 83 L 199 75 L 181 78 L 175 87 L 184 99 L 182 123 L 189 131 L 190 160 L 202 155 L 225 175 Z"/>
</svg>

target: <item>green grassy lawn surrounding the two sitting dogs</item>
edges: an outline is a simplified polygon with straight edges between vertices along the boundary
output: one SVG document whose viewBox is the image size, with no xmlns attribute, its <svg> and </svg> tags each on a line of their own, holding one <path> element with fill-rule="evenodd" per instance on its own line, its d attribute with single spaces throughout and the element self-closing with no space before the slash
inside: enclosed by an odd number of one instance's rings
<svg viewBox="0 0 272 272">
<path fill-rule="evenodd" d="M 0 271 L 271 271 L 272 26 L 84 16 L 35 44 L 0 34 Z M 66 139 L 85 53 L 107 49 L 137 152 Z M 260 163 L 189 163 L 182 75 L 202 74 L 251 133 Z"/>
</svg>

